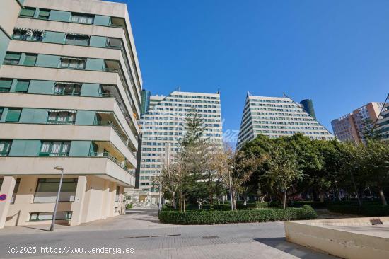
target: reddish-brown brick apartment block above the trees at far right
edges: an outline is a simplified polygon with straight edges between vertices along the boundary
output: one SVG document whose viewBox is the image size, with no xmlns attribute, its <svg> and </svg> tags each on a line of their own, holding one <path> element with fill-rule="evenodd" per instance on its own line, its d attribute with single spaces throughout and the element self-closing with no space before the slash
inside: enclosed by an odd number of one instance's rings
<svg viewBox="0 0 389 259">
<path fill-rule="evenodd" d="M 383 103 L 368 103 L 352 113 L 332 120 L 335 136 L 341 141 L 364 142 L 364 130 L 377 120 L 382 107 Z"/>
</svg>

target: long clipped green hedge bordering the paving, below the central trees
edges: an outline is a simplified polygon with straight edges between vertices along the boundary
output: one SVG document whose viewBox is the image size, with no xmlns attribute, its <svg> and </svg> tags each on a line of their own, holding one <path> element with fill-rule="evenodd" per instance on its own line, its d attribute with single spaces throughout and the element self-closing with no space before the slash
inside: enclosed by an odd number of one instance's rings
<svg viewBox="0 0 389 259">
<path fill-rule="evenodd" d="M 244 209 L 238 211 L 162 211 L 159 220 L 170 224 L 226 224 L 239 222 L 266 222 L 296 219 L 315 219 L 317 214 L 312 207 L 288 209 Z"/>
</svg>

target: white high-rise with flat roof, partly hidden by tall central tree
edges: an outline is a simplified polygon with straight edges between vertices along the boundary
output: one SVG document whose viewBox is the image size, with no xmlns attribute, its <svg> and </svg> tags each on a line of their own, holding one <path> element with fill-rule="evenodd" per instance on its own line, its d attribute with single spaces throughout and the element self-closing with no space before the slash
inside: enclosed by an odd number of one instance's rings
<svg viewBox="0 0 389 259">
<path fill-rule="evenodd" d="M 153 177 L 161 173 L 178 151 L 185 136 L 185 118 L 196 108 L 204 121 L 204 137 L 222 145 L 220 95 L 173 91 L 168 96 L 151 96 L 150 109 L 141 117 L 142 147 L 138 190 L 129 190 L 132 202 L 153 206 L 159 201 Z"/>
</svg>

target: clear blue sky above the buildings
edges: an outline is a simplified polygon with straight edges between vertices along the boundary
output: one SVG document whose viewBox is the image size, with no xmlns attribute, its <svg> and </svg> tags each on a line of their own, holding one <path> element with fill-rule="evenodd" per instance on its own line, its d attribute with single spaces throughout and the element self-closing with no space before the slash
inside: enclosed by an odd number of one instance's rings
<svg viewBox="0 0 389 259">
<path fill-rule="evenodd" d="M 239 129 L 247 91 L 312 98 L 332 119 L 389 92 L 389 1 L 122 0 L 143 87 L 221 91 L 223 129 Z"/>
</svg>

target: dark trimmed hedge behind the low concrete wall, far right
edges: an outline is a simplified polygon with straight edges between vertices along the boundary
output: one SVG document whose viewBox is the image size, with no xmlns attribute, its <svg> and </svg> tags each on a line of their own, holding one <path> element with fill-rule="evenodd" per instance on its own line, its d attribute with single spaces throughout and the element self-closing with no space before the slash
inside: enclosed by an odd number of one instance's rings
<svg viewBox="0 0 389 259">
<path fill-rule="evenodd" d="M 358 204 L 329 203 L 327 208 L 330 212 L 342 214 L 356 214 L 366 217 L 389 216 L 389 205 L 366 204 L 359 207 Z"/>
</svg>

